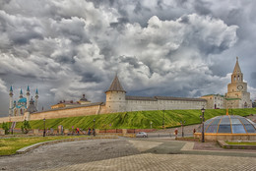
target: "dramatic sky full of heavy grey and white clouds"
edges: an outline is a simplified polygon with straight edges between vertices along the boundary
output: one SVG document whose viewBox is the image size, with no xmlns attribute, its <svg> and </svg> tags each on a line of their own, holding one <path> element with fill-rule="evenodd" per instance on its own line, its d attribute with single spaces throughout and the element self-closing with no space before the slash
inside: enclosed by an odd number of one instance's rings
<svg viewBox="0 0 256 171">
<path fill-rule="evenodd" d="M 39 108 L 83 93 L 104 101 L 117 73 L 129 95 L 226 92 L 239 57 L 256 98 L 256 1 L 0 1 L 0 116 L 9 88 Z"/>
</svg>

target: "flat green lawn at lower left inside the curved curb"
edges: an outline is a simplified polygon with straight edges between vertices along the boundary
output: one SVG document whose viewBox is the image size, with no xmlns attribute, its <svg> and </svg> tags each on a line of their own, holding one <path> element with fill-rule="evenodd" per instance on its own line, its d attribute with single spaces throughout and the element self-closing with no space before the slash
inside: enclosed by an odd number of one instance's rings
<svg viewBox="0 0 256 171">
<path fill-rule="evenodd" d="M 60 137 L 32 137 L 32 138 L 10 138 L 0 139 L 0 155 L 14 154 L 18 149 L 29 146 L 37 142 L 47 142 L 63 139 L 74 139 L 78 136 L 60 136 Z M 81 138 L 81 136 L 80 136 Z"/>
</svg>

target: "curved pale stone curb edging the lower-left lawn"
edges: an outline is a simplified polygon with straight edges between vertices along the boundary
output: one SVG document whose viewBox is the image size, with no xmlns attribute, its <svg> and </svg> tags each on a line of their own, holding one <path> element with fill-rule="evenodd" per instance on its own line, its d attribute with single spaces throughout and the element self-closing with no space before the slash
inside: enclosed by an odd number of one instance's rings
<svg viewBox="0 0 256 171">
<path fill-rule="evenodd" d="M 96 140 L 96 139 L 117 139 L 117 136 L 112 136 L 112 137 L 94 137 L 94 138 L 76 138 L 76 139 L 63 139 L 63 140 L 56 140 L 56 141 L 48 141 L 48 142 L 38 142 L 34 143 L 30 146 L 23 147 L 21 149 L 18 149 L 15 154 L 23 154 L 26 152 L 31 151 L 32 149 L 39 147 L 41 145 L 45 144 L 54 144 L 54 143 L 59 143 L 59 142 L 76 142 L 76 141 L 86 141 L 86 140 Z"/>
</svg>

